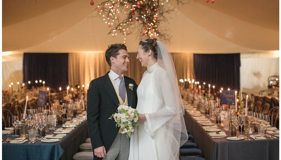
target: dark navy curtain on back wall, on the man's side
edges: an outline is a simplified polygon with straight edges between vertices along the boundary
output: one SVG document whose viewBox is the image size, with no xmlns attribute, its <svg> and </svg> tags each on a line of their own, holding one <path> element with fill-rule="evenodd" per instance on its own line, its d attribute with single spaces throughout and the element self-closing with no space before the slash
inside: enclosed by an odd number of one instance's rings
<svg viewBox="0 0 281 160">
<path fill-rule="evenodd" d="M 24 83 L 29 89 L 40 87 L 45 81 L 45 87 L 59 91 L 66 89 L 68 84 L 68 53 L 24 53 L 23 60 Z M 36 84 L 35 81 L 38 81 Z M 31 81 L 31 84 L 28 84 Z"/>
</svg>

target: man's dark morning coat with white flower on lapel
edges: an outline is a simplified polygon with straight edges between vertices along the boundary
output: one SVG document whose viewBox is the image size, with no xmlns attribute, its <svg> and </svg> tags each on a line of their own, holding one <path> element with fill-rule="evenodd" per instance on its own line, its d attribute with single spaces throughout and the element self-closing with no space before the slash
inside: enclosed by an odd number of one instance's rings
<svg viewBox="0 0 281 160">
<path fill-rule="evenodd" d="M 116 113 L 119 106 L 119 100 L 108 73 L 92 80 L 87 92 L 87 123 L 92 148 L 104 146 L 106 152 L 111 147 L 119 131 L 119 128 L 116 128 L 116 122 L 113 119 L 108 119 L 112 114 Z M 124 76 L 124 81 L 128 106 L 136 108 L 138 101 L 136 89 L 138 86 L 129 77 Z M 134 85 L 133 90 L 129 88 L 130 83 Z M 94 155 L 94 159 L 102 158 Z"/>
</svg>

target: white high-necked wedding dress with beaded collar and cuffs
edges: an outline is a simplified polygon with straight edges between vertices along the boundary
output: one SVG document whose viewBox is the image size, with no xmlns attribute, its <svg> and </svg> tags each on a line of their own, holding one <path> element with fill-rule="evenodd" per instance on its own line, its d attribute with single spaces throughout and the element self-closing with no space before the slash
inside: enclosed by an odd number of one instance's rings
<svg viewBox="0 0 281 160">
<path fill-rule="evenodd" d="M 174 135 L 169 131 L 169 126 L 165 124 L 175 116 L 173 91 L 170 89 L 169 80 L 165 77 L 167 77 L 167 72 L 158 63 L 155 63 L 144 73 L 138 86 L 136 109 L 138 113 L 146 115 L 147 121 L 139 124 L 139 130 L 135 130 L 134 135 L 131 137 L 129 159 L 178 159 L 171 151 L 170 142 L 175 139 Z M 155 82 L 158 83 L 156 84 Z M 157 88 L 161 90 L 158 91 Z M 161 120 L 159 120 L 160 117 Z M 173 145 L 179 147 L 179 143 Z M 132 158 L 132 154 L 134 158 Z"/>
</svg>

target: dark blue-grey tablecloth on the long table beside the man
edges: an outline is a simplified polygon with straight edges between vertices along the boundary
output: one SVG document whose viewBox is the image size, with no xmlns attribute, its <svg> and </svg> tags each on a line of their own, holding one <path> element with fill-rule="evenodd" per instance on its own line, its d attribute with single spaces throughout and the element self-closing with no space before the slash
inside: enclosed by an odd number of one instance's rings
<svg viewBox="0 0 281 160">
<path fill-rule="evenodd" d="M 66 120 L 66 119 L 64 119 Z M 56 125 L 56 128 L 62 125 Z M 23 129 L 20 127 L 20 134 L 22 135 Z M 54 130 L 49 130 L 46 134 L 53 133 Z M 13 137 L 11 135 L 2 135 L 3 141 L 8 137 L 12 140 L 20 136 Z M 40 136 L 36 136 L 40 137 Z M 5 160 L 29 160 L 29 159 L 44 159 L 44 160 L 69 160 L 72 156 L 79 151 L 79 145 L 85 143 L 85 139 L 89 137 L 87 121 L 83 121 L 80 125 L 75 127 L 73 131 L 68 133 L 61 141 L 54 143 L 44 143 L 40 140 L 36 143 L 30 143 L 28 140 L 25 143 L 2 143 L 2 159 Z"/>
</svg>

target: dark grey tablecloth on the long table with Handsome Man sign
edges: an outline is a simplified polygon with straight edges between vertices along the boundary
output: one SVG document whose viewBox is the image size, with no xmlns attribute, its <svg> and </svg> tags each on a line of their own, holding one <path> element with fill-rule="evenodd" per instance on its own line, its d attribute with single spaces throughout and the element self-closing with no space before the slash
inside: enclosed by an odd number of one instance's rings
<svg viewBox="0 0 281 160">
<path fill-rule="evenodd" d="M 206 118 L 210 116 L 206 115 Z M 227 137 L 212 138 L 186 109 L 184 120 L 190 134 L 194 136 L 194 143 L 203 151 L 203 158 L 206 160 L 279 159 L 279 137 L 271 139 L 264 136 L 266 137 L 264 140 L 254 140 L 247 134 L 245 136 L 250 140 L 231 141 L 227 139 L 231 137 L 230 131 L 225 131 Z M 212 120 L 212 123 L 216 123 L 215 120 Z M 218 126 L 218 128 L 223 130 L 223 127 Z"/>
</svg>

